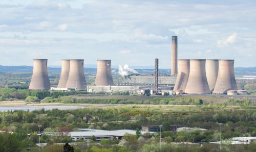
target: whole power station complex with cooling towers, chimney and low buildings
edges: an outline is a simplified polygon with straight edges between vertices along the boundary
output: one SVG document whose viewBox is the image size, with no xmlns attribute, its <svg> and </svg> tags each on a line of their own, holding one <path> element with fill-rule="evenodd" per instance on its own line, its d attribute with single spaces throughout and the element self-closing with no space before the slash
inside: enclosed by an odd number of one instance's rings
<svg viewBox="0 0 256 152">
<path fill-rule="evenodd" d="M 182 59 L 177 68 L 178 38 L 172 37 L 171 75 L 159 73 L 159 60 L 155 60 L 154 74 L 130 74 L 114 84 L 111 60 L 97 60 L 97 74 L 93 86 L 87 86 L 84 60 L 62 60 L 58 88 L 51 88 L 47 60 L 34 60 L 29 89 L 32 90 L 88 90 L 90 92 L 129 91 L 138 93 L 151 90 L 154 94 L 173 90 L 176 94 L 247 94 L 238 90 L 234 78 L 234 60 Z M 144 94 L 144 93 L 143 93 Z"/>
</svg>

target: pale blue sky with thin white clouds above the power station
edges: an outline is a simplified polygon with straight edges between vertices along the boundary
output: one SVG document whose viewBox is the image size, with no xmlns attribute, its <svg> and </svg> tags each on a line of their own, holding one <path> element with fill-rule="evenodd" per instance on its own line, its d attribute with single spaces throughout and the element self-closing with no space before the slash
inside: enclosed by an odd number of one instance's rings
<svg viewBox="0 0 256 152">
<path fill-rule="evenodd" d="M 0 65 L 33 59 L 111 59 L 112 65 L 170 68 L 179 59 L 234 59 L 256 66 L 256 1 L 0 1 Z"/>
</svg>

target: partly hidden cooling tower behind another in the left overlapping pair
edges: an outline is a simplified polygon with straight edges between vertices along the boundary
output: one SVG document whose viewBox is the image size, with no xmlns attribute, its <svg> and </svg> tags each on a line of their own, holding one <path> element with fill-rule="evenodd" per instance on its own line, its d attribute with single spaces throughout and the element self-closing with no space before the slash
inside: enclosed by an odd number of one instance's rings
<svg viewBox="0 0 256 152">
<path fill-rule="evenodd" d="M 69 60 L 61 60 L 61 74 L 59 78 L 58 88 L 65 88 L 69 78 Z"/>
</svg>

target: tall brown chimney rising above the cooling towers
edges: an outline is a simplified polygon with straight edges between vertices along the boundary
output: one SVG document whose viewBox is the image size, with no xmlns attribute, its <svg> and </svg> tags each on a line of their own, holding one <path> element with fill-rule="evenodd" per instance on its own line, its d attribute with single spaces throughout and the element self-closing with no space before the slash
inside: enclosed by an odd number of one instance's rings
<svg viewBox="0 0 256 152">
<path fill-rule="evenodd" d="M 177 49 L 178 49 L 178 37 L 172 37 L 172 75 L 177 74 Z"/>
</svg>

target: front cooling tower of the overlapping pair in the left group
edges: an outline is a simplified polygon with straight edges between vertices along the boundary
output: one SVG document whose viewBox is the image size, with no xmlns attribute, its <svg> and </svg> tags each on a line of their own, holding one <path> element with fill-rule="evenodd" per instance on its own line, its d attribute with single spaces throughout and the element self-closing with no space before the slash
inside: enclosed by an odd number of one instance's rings
<svg viewBox="0 0 256 152">
<path fill-rule="evenodd" d="M 70 60 L 69 78 L 66 88 L 86 90 L 86 77 L 84 76 L 83 60 Z"/>
</svg>

